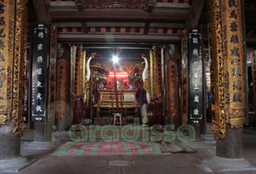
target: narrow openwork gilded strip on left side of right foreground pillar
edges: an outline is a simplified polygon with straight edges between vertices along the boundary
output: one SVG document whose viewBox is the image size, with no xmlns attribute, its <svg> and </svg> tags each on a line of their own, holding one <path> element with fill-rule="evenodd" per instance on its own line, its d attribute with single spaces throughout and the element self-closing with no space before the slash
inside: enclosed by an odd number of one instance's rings
<svg viewBox="0 0 256 174">
<path fill-rule="evenodd" d="M 222 23 L 220 18 L 220 2 L 208 1 L 210 7 L 211 30 L 211 66 L 210 94 L 212 101 L 211 132 L 215 138 L 225 138 L 226 121 L 224 112 L 224 72 L 223 72 L 223 40 Z M 215 29 L 214 29 L 215 28 Z"/>
</svg>

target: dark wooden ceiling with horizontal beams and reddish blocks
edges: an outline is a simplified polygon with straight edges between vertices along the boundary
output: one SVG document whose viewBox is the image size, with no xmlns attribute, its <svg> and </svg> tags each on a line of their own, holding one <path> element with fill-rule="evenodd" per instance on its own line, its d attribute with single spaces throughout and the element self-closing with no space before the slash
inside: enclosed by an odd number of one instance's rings
<svg viewBox="0 0 256 174">
<path fill-rule="evenodd" d="M 145 10 L 85 8 L 75 0 L 31 2 L 38 22 L 57 26 L 59 41 L 150 45 L 180 43 L 182 30 L 197 25 L 204 4 L 204 0 L 158 0 Z"/>
</svg>

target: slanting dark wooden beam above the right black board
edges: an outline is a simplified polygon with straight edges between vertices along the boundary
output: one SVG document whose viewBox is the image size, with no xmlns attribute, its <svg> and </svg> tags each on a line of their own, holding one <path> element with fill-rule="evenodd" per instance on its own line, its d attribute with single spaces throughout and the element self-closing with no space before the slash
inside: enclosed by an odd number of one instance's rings
<svg viewBox="0 0 256 174">
<path fill-rule="evenodd" d="M 197 28 L 205 2 L 206 0 L 193 0 L 192 8 L 190 11 L 191 15 L 189 15 L 189 19 L 187 21 L 188 28 Z"/>
</svg>

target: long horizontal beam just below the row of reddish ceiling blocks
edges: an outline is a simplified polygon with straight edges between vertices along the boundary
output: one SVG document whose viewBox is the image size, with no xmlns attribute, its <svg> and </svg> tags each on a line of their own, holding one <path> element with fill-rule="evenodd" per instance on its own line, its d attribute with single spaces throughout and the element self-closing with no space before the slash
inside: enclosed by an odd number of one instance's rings
<svg viewBox="0 0 256 174">
<path fill-rule="evenodd" d="M 67 42 L 128 42 L 128 43 L 180 43 L 181 35 L 112 35 L 112 34 L 58 34 L 59 41 Z"/>
</svg>

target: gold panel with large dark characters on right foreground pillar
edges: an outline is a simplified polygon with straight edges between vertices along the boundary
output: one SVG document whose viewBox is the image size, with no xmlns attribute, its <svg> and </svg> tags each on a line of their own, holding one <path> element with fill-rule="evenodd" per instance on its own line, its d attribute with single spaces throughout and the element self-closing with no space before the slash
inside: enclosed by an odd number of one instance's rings
<svg viewBox="0 0 256 174">
<path fill-rule="evenodd" d="M 241 21 L 241 0 L 221 0 L 223 23 L 223 59 L 228 80 L 225 80 L 226 122 L 242 127 L 245 122 L 245 73 Z M 228 83 L 228 84 L 226 84 Z M 227 94 L 227 95 L 226 95 Z"/>
</svg>

